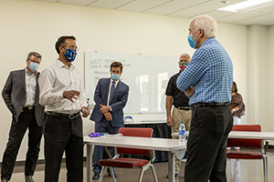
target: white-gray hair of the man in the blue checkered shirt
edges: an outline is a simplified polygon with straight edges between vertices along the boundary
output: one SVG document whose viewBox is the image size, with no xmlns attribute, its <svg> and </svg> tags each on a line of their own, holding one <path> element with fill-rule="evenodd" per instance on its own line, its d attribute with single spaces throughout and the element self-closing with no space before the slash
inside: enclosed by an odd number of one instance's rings
<svg viewBox="0 0 274 182">
<path fill-rule="evenodd" d="M 216 21 L 210 15 L 198 15 L 194 18 L 194 26 L 196 30 L 202 28 L 204 30 L 205 37 L 209 38 L 216 36 L 217 25 Z"/>
</svg>

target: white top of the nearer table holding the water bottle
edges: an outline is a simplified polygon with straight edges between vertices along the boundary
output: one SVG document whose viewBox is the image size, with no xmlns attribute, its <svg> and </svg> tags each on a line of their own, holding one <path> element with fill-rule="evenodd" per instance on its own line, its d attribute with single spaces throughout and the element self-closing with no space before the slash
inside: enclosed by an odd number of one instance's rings
<svg viewBox="0 0 274 182">
<path fill-rule="evenodd" d="M 153 149 L 161 151 L 177 151 L 186 149 L 185 142 L 177 139 L 158 138 L 158 137 L 132 137 L 132 136 L 84 136 L 84 143 L 108 147 L 132 147 L 142 149 Z"/>
</svg>

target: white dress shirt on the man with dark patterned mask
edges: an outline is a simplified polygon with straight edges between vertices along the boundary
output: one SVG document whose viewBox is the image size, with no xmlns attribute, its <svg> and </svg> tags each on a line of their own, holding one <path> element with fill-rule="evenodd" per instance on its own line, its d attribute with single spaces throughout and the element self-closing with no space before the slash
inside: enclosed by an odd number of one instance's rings
<svg viewBox="0 0 274 182">
<path fill-rule="evenodd" d="M 48 66 L 38 78 L 40 95 L 39 103 L 45 106 L 45 112 L 75 114 L 86 106 L 86 94 L 82 86 L 81 74 L 72 64 L 64 65 L 57 60 Z M 63 97 L 64 91 L 77 90 L 80 95 L 74 103 Z"/>
</svg>

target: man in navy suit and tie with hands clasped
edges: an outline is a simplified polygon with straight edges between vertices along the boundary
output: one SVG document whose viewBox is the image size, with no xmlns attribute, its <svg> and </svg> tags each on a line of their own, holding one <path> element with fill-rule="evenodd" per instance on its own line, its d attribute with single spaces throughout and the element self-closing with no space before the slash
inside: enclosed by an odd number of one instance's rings
<svg viewBox="0 0 274 182">
<path fill-rule="evenodd" d="M 129 95 L 129 86 L 122 83 L 120 76 L 122 65 L 120 62 L 111 64 L 111 78 L 101 78 L 96 86 L 94 101 L 96 105 L 91 113 L 90 120 L 95 122 L 95 132 L 117 134 L 123 123 L 122 108 L 126 105 Z M 114 156 L 114 147 L 109 148 Z M 93 179 L 99 178 L 101 167 L 98 164 L 103 158 L 104 149 L 95 146 L 92 156 Z M 109 176 L 110 176 L 110 171 Z M 114 176 L 118 177 L 114 172 Z"/>
</svg>

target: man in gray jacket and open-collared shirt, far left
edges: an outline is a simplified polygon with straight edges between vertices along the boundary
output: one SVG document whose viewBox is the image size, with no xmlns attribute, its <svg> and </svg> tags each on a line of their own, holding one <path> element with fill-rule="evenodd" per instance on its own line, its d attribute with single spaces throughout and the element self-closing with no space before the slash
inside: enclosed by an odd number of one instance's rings
<svg viewBox="0 0 274 182">
<path fill-rule="evenodd" d="M 38 153 L 45 113 L 44 106 L 39 105 L 39 86 L 37 68 L 41 55 L 30 52 L 26 58 L 26 68 L 10 72 L 2 96 L 5 105 L 13 115 L 2 160 L 1 181 L 10 180 L 22 139 L 28 128 L 28 148 L 26 153 L 25 180 L 33 182 L 37 166 Z"/>
</svg>

